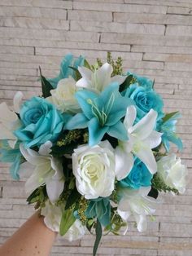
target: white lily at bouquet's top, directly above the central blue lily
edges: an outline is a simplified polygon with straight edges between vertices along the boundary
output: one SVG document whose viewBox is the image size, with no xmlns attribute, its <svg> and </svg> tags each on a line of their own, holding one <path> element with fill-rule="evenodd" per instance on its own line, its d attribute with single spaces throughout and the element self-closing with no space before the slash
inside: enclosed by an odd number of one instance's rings
<svg viewBox="0 0 192 256">
<path fill-rule="evenodd" d="M 82 78 L 76 82 L 76 86 L 83 87 L 97 92 L 103 91 L 111 82 L 117 82 L 119 85 L 124 82 L 126 76 L 111 77 L 113 68 L 111 64 L 105 63 L 101 68 L 92 72 L 89 68 L 78 67 Z"/>
</svg>

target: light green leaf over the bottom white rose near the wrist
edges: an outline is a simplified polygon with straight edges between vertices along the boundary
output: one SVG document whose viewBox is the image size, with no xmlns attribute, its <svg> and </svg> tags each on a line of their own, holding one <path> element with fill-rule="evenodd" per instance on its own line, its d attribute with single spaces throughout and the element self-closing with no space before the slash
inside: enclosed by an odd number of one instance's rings
<svg viewBox="0 0 192 256">
<path fill-rule="evenodd" d="M 60 235 L 64 236 L 75 221 L 76 218 L 74 217 L 72 210 L 64 210 L 59 227 Z"/>
</svg>

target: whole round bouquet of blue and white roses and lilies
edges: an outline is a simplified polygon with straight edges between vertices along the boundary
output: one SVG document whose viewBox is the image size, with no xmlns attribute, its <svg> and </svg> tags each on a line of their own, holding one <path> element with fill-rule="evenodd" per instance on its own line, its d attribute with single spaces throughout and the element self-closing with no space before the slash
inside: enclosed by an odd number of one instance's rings
<svg viewBox="0 0 192 256">
<path fill-rule="evenodd" d="M 41 74 L 41 68 L 40 68 Z M 0 158 L 24 179 L 28 203 L 47 227 L 69 241 L 146 230 L 159 192 L 185 192 L 186 168 L 170 152 L 182 149 L 179 113 L 164 113 L 154 82 L 124 73 L 122 60 L 91 65 L 66 55 L 58 77 L 41 75 L 42 94 L 0 104 Z"/>
</svg>

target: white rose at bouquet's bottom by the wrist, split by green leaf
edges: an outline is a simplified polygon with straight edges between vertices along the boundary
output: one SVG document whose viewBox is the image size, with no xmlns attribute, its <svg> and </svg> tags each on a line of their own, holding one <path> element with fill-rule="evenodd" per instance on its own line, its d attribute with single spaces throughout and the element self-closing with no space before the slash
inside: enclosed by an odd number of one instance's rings
<svg viewBox="0 0 192 256">
<path fill-rule="evenodd" d="M 46 227 L 50 228 L 54 232 L 59 232 L 62 218 L 61 207 L 53 205 L 49 200 L 47 200 L 45 207 L 41 209 L 41 215 L 45 216 L 44 223 L 46 224 Z M 68 241 L 74 241 L 80 239 L 84 235 L 85 227 L 79 219 L 76 219 L 68 229 L 68 232 L 62 237 L 68 239 Z"/>
</svg>

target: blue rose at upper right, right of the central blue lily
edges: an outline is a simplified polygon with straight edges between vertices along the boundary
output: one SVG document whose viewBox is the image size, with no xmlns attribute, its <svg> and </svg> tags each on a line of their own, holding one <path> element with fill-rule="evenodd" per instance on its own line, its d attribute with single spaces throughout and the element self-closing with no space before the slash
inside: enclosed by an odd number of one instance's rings
<svg viewBox="0 0 192 256">
<path fill-rule="evenodd" d="M 163 99 L 155 92 L 155 90 L 150 88 L 150 86 L 143 87 L 134 83 L 125 91 L 124 96 L 134 100 L 137 108 L 137 121 L 146 116 L 146 113 L 148 113 L 151 108 L 158 113 L 157 120 L 164 117 Z"/>
</svg>

